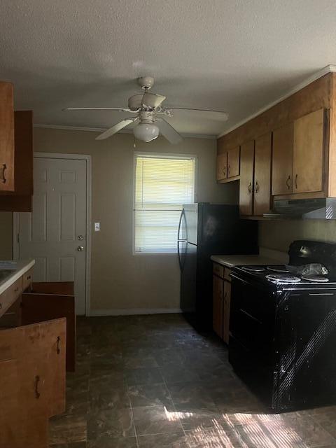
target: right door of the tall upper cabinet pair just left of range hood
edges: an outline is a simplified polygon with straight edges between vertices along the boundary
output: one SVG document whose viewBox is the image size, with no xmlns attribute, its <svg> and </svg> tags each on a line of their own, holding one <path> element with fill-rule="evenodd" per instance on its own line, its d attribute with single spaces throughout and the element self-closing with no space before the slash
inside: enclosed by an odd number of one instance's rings
<svg viewBox="0 0 336 448">
<path fill-rule="evenodd" d="M 255 139 L 254 155 L 254 214 L 269 211 L 271 203 L 271 132 Z"/>
</svg>

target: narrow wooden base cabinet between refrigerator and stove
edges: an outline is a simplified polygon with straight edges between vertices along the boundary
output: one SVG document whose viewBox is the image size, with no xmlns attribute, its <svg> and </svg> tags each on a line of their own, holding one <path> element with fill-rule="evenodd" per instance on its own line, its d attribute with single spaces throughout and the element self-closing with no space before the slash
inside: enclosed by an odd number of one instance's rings
<svg viewBox="0 0 336 448">
<path fill-rule="evenodd" d="M 213 311 L 212 323 L 216 334 L 229 343 L 231 269 L 214 263 L 213 265 Z"/>
</svg>

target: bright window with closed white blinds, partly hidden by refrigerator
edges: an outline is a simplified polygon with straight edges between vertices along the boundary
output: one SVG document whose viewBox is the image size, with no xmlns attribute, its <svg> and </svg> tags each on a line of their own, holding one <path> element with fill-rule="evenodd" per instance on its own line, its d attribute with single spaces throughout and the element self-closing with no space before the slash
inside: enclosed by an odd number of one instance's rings
<svg viewBox="0 0 336 448">
<path fill-rule="evenodd" d="M 195 201 L 195 158 L 135 155 L 134 253 L 174 253 L 182 205 Z"/>
</svg>

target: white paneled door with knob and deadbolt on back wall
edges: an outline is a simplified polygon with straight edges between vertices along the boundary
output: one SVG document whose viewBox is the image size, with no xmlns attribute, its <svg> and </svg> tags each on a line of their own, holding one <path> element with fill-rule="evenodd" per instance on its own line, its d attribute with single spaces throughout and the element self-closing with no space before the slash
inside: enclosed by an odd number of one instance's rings
<svg viewBox="0 0 336 448">
<path fill-rule="evenodd" d="M 87 161 L 34 158 L 31 213 L 18 214 L 18 255 L 34 258 L 34 281 L 74 281 L 85 314 Z"/>
</svg>

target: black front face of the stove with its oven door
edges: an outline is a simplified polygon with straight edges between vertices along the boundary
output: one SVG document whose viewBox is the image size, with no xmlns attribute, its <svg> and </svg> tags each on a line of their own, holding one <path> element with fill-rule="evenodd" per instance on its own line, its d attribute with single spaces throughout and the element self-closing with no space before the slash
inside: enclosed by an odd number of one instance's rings
<svg viewBox="0 0 336 448">
<path fill-rule="evenodd" d="M 232 273 L 231 277 L 229 361 L 271 405 L 276 295 L 240 274 Z"/>
</svg>

